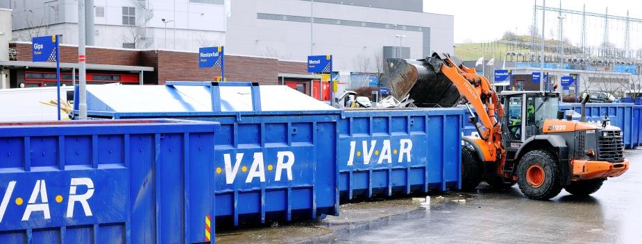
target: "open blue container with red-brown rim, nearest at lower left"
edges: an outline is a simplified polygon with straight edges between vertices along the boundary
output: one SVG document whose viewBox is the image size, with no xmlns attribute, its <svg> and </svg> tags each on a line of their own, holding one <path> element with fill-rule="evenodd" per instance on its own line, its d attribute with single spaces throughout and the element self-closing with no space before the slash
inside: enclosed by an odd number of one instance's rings
<svg viewBox="0 0 642 244">
<path fill-rule="evenodd" d="M 0 123 L 0 243 L 212 242 L 218 123 Z"/>
</svg>

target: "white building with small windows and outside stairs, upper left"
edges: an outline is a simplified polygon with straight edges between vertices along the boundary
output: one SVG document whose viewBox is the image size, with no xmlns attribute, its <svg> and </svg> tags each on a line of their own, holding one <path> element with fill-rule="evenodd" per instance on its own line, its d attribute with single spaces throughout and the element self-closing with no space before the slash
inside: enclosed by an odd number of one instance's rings
<svg viewBox="0 0 642 244">
<path fill-rule="evenodd" d="M 225 44 L 225 3 L 94 0 L 94 11 L 85 15 L 94 15 L 94 46 L 194 50 Z M 13 9 L 14 40 L 62 35 L 63 44 L 78 44 L 77 0 L 0 0 L 0 7 Z"/>
</svg>

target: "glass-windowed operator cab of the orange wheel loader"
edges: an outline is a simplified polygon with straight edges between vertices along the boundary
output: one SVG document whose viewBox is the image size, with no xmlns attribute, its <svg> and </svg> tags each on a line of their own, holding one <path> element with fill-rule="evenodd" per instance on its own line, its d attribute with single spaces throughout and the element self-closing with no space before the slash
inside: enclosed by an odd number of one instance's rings
<svg viewBox="0 0 642 244">
<path fill-rule="evenodd" d="M 544 120 L 555 119 L 559 94 L 555 92 L 502 92 L 504 125 L 502 137 L 507 148 L 519 148 L 529 137 L 541 134 Z"/>
</svg>

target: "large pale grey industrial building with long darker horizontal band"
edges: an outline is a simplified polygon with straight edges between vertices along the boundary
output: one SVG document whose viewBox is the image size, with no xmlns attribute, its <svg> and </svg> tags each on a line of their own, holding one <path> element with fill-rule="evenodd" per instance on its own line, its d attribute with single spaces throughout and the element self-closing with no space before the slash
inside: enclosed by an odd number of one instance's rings
<svg viewBox="0 0 642 244">
<path fill-rule="evenodd" d="M 453 53 L 453 21 L 422 0 L 233 0 L 226 40 L 231 53 L 333 55 L 335 70 L 374 73 L 382 58 Z"/>
</svg>

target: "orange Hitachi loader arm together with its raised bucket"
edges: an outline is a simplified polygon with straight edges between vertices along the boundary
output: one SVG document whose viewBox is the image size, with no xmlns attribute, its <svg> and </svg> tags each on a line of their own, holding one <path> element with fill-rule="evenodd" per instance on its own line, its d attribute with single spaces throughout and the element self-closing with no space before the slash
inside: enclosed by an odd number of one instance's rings
<svg viewBox="0 0 642 244">
<path fill-rule="evenodd" d="M 498 162 L 503 158 L 501 115 L 503 107 L 490 82 L 477 74 L 474 68 L 465 67 L 449 55 L 434 53 L 423 60 L 389 59 L 387 73 L 389 85 L 396 96 L 409 94 L 423 106 L 455 106 L 465 98 L 476 114 L 471 118 L 480 138 L 468 137 L 474 143 L 484 162 Z M 467 105 L 468 106 L 468 105 Z M 470 107 L 469 107 L 470 108 Z M 474 114 L 473 114 L 474 116 Z"/>
</svg>

